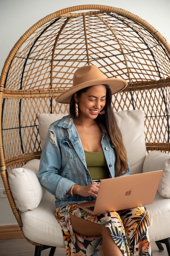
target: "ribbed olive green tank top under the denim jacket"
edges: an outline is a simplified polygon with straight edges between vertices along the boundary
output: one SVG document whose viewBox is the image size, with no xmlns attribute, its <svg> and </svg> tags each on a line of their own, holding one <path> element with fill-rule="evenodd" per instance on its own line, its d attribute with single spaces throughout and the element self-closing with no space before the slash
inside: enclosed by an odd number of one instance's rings
<svg viewBox="0 0 170 256">
<path fill-rule="evenodd" d="M 84 150 L 86 164 L 92 180 L 102 180 L 109 178 L 109 170 L 103 150 L 89 152 Z"/>
</svg>

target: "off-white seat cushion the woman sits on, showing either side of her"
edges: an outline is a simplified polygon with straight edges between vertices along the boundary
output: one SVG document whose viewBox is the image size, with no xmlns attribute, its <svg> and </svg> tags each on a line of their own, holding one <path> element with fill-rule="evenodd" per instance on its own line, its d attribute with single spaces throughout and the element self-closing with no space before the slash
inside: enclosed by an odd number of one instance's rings
<svg viewBox="0 0 170 256">
<path fill-rule="evenodd" d="M 158 241 L 169 236 L 170 199 L 163 198 L 157 192 L 153 204 L 146 205 L 150 216 L 150 241 Z M 24 235 L 31 241 L 65 248 L 60 224 L 55 219 L 55 198 L 47 191 L 39 206 L 32 210 L 21 212 Z"/>
</svg>

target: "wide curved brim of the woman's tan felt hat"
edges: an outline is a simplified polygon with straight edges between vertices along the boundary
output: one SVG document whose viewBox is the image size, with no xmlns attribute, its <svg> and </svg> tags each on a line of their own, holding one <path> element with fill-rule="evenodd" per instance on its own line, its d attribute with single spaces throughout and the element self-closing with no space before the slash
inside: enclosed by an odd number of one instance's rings
<svg viewBox="0 0 170 256">
<path fill-rule="evenodd" d="M 115 94 L 117 92 L 121 92 L 124 90 L 128 82 L 124 79 L 118 79 L 118 78 L 105 78 L 105 79 L 97 79 L 97 80 L 90 80 L 78 85 L 75 85 L 71 88 L 69 88 L 66 92 L 61 93 L 57 98 L 56 101 L 59 103 L 70 103 L 71 97 L 75 92 L 78 92 L 79 90 L 97 85 L 97 84 L 107 84 L 109 85 L 112 94 Z"/>
</svg>

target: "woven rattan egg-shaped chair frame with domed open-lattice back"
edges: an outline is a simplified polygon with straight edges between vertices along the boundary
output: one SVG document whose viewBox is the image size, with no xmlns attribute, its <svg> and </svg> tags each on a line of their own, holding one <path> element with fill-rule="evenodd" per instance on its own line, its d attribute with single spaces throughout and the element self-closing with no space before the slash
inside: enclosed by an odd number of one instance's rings
<svg viewBox="0 0 170 256">
<path fill-rule="evenodd" d="M 170 45 L 165 38 L 138 16 L 105 5 L 74 6 L 46 16 L 11 49 L 0 78 L 1 176 L 21 230 L 8 173 L 40 158 L 38 115 L 68 112 L 68 105 L 55 98 L 72 86 L 74 71 L 84 65 L 128 81 L 113 95 L 113 110 L 144 110 L 147 152 L 170 153 Z"/>
</svg>

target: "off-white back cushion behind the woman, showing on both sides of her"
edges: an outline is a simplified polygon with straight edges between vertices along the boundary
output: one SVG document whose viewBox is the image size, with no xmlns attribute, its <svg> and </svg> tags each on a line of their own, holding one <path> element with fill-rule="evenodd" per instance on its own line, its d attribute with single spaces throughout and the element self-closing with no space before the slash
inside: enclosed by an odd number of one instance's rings
<svg viewBox="0 0 170 256">
<path fill-rule="evenodd" d="M 50 124 L 66 115 L 67 114 L 39 114 L 39 135 L 42 148 Z M 130 164 L 130 173 L 135 174 L 142 172 L 146 157 L 144 111 L 125 110 L 116 112 L 115 115 L 123 135 L 127 158 Z"/>
</svg>

